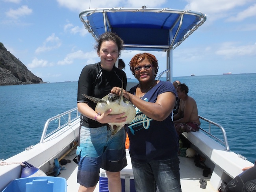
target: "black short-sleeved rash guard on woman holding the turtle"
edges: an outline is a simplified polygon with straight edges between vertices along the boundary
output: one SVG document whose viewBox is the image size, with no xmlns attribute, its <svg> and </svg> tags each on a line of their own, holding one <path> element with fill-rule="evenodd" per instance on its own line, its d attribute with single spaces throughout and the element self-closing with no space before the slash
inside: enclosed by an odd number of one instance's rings
<svg viewBox="0 0 256 192">
<path fill-rule="evenodd" d="M 122 87 L 124 80 L 124 89 L 126 90 L 127 78 L 123 70 L 113 66 L 113 70 L 106 71 L 99 63 L 86 65 L 78 80 L 77 103 L 88 103 L 95 110 L 96 104 L 88 100 L 83 94 L 96 98 L 103 98 L 110 93 L 113 87 Z M 102 127 L 107 124 L 101 124 L 95 120 L 87 118 L 81 114 L 81 124 L 85 127 Z"/>
</svg>

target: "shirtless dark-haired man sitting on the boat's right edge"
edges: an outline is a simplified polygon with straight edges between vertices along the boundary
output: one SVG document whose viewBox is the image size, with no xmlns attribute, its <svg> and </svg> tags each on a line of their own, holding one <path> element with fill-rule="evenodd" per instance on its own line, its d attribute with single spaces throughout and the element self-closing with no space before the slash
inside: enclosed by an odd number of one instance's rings
<svg viewBox="0 0 256 192">
<path fill-rule="evenodd" d="M 180 99 L 180 107 L 177 114 L 173 116 L 173 122 L 178 135 L 183 132 L 198 131 L 200 120 L 198 117 L 196 101 L 187 95 L 188 87 L 185 83 L 177 86 L 177 94 Z"/>
</svg>

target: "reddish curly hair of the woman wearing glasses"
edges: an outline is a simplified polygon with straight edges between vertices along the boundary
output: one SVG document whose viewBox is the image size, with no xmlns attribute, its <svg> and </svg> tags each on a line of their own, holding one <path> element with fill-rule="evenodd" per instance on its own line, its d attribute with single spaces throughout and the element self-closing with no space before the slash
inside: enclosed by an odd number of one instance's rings
<svg viewBox="0 0 256 192">
<path fill-rule="evenodd" d="M 155 67 L 154 76 L 156 77 L 156 74 L 158 73 L 158 60 L 156 59 L 155 55 L 152 55 L 150 53 L 143 53 L 143 54 L 136 54 L 134 57 L 132 57 L 129 65 L 130 70 L 132 71 L 132 74 L 135 76 L 135 70 L 134 67 L 136 65 L 139 65 L 144 59 L 148 59 L 151 65 Z"/>
</svg>

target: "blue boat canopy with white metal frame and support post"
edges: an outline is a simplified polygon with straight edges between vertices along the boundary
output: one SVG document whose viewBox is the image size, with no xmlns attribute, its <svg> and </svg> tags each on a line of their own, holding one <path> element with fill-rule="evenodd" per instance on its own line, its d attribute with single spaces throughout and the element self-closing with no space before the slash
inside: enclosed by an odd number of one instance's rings
<svg viewBox="0 0 256 192">
<path fill-rule="evenodd" d="M 170 8 L 96 8 L 79 14 L 85 28 L 97 40 L 107 31 L 124 41 L 126 50 L 166 51 L 167 81 L 172 81 L 173 50 L 206 21 L 206 15 Z"/>
</svg>

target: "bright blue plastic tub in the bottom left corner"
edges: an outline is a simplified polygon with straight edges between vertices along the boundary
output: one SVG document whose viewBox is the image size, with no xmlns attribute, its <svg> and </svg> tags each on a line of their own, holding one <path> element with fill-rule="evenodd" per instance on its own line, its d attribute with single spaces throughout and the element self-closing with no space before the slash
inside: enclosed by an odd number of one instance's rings
<svg viewBox="0 0 256 192">
<path fill-rule="evenodd" d="M 2 192 L 67 192 L 62 177 L 25 177 L 11 181 Z"/>
</svg>

